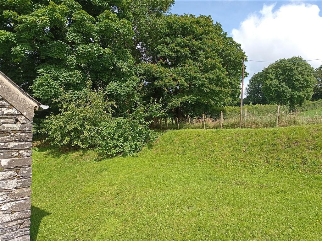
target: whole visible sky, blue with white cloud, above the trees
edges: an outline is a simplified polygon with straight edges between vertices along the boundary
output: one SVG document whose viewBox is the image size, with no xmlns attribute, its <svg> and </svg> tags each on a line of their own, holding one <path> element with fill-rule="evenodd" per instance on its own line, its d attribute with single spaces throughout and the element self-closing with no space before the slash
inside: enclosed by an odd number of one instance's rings
<svg viewBox="0 0 322 241">
<path fill-rule="evenodd" d="M 322 0 L 175 0 L 171 13 L 211 15 L 242 45 L 249 60 L 322 58 Z M 322 60 L 308 61 L 317 68 Z M 249 78 L 270 63 L 248 61 Z"/>
</svg>

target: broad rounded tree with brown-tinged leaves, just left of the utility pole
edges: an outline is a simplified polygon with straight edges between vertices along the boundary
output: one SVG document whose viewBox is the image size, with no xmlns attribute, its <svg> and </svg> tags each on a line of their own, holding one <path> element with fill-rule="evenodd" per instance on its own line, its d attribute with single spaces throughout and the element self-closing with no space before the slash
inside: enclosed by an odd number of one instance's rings
<svg viewBox="0 0 322 241">
<path fill-rule="evenodd" d="M 151 26 L 137 67 L 146 101 L 162 98 L 181 118 L 239 98 L 245 55 L 219 23 L 210 16 L 170 14 Z"/>
</svg>

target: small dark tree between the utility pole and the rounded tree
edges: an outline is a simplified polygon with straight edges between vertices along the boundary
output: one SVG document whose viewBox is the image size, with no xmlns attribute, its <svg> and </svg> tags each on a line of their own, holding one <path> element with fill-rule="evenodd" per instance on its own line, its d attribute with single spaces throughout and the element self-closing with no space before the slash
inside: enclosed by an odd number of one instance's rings
<svg viewBox="0 0 322 241">
<path fill-rule="evenodd" d="M 267 100 L 262 92 L 264 83 L 263 74 L 259 72 L 251 77 L 249 84 L 246 87 L 245 94 L 247 95 L 245 103 L 252 104 L 267 104 Z"/>
</svg>

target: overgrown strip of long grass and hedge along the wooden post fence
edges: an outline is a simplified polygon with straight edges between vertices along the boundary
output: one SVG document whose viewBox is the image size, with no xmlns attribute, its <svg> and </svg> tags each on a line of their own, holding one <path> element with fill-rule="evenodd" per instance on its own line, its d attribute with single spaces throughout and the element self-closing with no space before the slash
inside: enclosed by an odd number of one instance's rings
<svg viewBox="0 0 322 241">
<path fill-rule="evenodd" d="M 303 126 L 322 124 L 322 102 L 307 101 L 296 112 L 290 112 L 285 105 L 280 105 L 279 127 Z M 247 109 L 247 118 L 245 110 Z M 236 129 L 240 127 L 240 107 L 226 106 L 217 108 L 214 114 L 205 114 L 205 121 L 202 116 L 184 117 L 179 120 L 179 129 L 220 129 L 221 114 L 223 111 L 223 129 Z M 168 124 L 165 119 L 162 120 L 162 126 L 158 124 L 159 129 L 178 129 L 177 124 L 172 124 L 168 118 Z M 277 105 L 244 105 L 242 114 L 242 128 L 275 128 L 277 126 Z"/>
</svg>

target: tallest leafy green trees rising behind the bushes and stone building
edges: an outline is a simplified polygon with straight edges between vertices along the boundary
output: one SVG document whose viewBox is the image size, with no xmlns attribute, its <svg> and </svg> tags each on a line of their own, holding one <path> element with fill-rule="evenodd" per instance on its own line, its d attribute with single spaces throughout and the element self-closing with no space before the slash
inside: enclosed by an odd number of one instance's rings
<svg viewBox="0 0 322 241">
<path fill-rule="evenodd" d="M 132 54 L 143 22 L 162 15 L 173 0 L 0 2 L 0 69 L 43 103 L 81 91 L 87 79 L 117 103 L 133 104 L 139 79 Z"/>
</svg>

